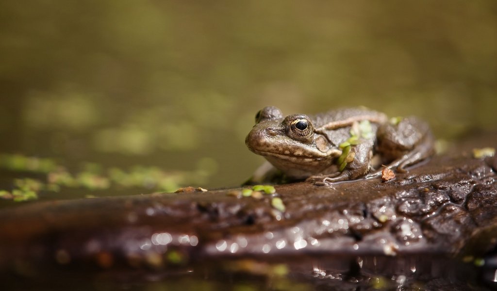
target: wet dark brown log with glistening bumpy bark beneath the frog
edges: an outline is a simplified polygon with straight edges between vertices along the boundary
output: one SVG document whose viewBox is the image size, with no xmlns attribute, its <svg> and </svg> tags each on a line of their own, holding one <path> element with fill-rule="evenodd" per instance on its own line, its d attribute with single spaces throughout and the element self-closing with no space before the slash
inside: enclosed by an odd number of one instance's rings
<svg viewBox="0 0 497 291">
<path fill-rule="evenodd" d="M 480 135 L 396 173 L 330 186 L 41 202 L 0 212 L 0 270 L 29 266 L 170 268 L 218 258 L 413 254 L 477 258 L 497 246 L 497 157 Z M 281 198 L 285 209 L 272 204 Z M 26 267 L 27 266 L 27 267 Z"/>
</svg>

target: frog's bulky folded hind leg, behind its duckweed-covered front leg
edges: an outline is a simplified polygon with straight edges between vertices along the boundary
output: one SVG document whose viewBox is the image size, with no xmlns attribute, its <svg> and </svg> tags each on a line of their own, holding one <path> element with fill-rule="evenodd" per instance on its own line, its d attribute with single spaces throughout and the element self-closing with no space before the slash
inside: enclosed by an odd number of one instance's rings
<svg viewBox="0 0 497 291">
<path fill-rule="evenodd" d="M 387 168 L 406 172 L 406 167 L 419 162 L 434 153 L 434 139 L 426 123 L 408 117 L 398 122 L 385 123 L 377 132 L 376 151 Z M 377 176 L 378 170 L 367 178 Z"/>
</svg>

